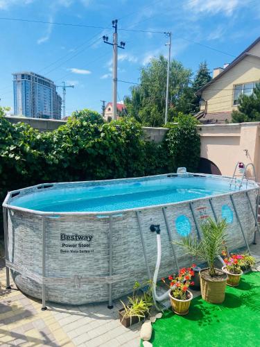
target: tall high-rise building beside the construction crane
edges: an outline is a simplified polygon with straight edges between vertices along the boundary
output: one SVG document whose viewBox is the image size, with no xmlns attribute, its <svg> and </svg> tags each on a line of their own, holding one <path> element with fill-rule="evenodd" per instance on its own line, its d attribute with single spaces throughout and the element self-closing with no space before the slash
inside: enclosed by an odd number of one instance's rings
<svg viewBox="0 0 260 347">
<path fill-rule="evenodd" d="M 14 114 L 32 118 L 61 118 L 62 98 L 53 81 L 33 72 L 14 76 Z"/>
</svg>

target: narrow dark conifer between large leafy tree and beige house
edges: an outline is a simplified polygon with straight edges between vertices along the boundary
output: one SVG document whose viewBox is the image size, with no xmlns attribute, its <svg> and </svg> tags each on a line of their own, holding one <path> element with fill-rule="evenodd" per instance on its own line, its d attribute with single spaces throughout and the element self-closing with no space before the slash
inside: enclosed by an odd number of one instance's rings
<svg viewBox="0 0 260 347">
<path fill-rule="evenodd" d="M 198 96 L 196 93 L 200 88 L 202 88 L 204 85 L 206 85 L 209 81 L 211 81 L 211 74 L 209 71 L 209 68 L 207 67 L 207 62 L 200 62 L 200 65 L 198 67 L 198 72 L 196 76 L 193 79 L 193 83 L 191 85 L 192 87 L 192 94 L 190 95 L 190 108 L 191 113 L 196 113 L 200 110 L 200 96 Z M 189 99 L 189 97 L 188 97 Z"/>
</svg>

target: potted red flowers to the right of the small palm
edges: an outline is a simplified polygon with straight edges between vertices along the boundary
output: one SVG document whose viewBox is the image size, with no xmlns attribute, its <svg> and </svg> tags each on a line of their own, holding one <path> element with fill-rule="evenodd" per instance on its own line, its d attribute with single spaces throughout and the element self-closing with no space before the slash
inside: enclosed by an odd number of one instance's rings
<svg viewBox="0 0 260 347">
<path fill-rule="evenodd" d="M 224 254 L 223 254 L 224 255 Z M 243 260 L 243 255 L 232 254 L 230 257 L 225 257 L 223 266 L 223 271 L 227 273 L 227 285 L 236 287 L 239 285 L 239 281 L 243 271 L 241 270 L 241 260 Z"/>
</svg>

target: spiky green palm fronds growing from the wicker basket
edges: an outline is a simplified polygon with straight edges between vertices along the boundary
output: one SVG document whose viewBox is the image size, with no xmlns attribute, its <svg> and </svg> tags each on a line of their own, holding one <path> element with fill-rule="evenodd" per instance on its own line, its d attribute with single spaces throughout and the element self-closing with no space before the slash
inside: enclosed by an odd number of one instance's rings
<svg viewBox="0 0 260 347">
<path fill-rule="evenodd" d="M 211 218 L 207 218 L 200 225 L 202 230 L 202 239 L 192 239 L 190 236 L 182 237 L 181 242 L 174 242 L 175 244 L 182 246 L 184 252 L 200 260 L 207 262 L 209 266 L 209 275 L 211 277 L 216 276 L 214 267 L 214 260 L 221 254 L 225 245 L 224 232 L 227 228 L 227 222 L 225 219 L 218 219 L 214 221 Z"/>
</svg>

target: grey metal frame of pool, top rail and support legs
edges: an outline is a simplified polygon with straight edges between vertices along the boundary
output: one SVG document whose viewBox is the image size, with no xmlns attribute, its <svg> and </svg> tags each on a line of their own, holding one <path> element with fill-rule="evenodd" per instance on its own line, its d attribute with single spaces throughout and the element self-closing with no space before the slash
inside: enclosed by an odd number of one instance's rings
<svg viewBox="0 0 260 347">
<path fill-rule="evenodd" d="M 181 176 L 181 177 L 209 177 L 209 178 L 216 178 L 218 180 L 227 180 L 229 183 L 232 183 L 232 178 L 229 176 L 216 176 L 216 175 L 207 175 L 207 174 L 191 174 L 191 173 L 187 173 L 187 174 L 166 174 L 166 175 L 157 175 L 157 176 L 148 176 L 147 178 L 126 178 L 126 179 L 120 179 L 120 180 L 102 180 L 102 181 L 87 181 L 87 182 L 80 182 L 77 183 L 77 185 L 86 185 L 87 183 L 92 183 L 94 185 L 101 185 L 101 184 L 110 184 L 113 182 L 116 183 L 121 183 L 121 182 L 132 182 L 133 180 L 148 180 L 148 179 L 153 179 L 153 178 L 164 178 L 164 177 L 177 177 L 177 176 Z M 152 206 L 146 206 L 144 208 L 133 208 L 133 209 L 128 209 L 128 210 L 116 210 L 116 211 L 107 211 L 107 212 L 41 212 L 41 211 L 37 211 L 37 210 L 29 210 L 26 208 L 19 208 L 16 207 L 14 205 L 12 205 L 12 198 L 14 198 L 15 196 L 19 195 L 19 194 L 24 194 L 26 195 L 26 193 L 31 193 L 31 192 L 37 192 L 37 189 L 49 189 L 51 187 L 62 187 L 62 185 L 65 187 L 73 187 L 75 185 L 75 183 L 44 183 L 41 185 L 35 185 L 33 187 L 28 187 L 28 188 L 24 188 L 24 189 L 17 189 L 15 191 L 12 192 L 8 192 L 6 199 L 3 202 L 3 228 L 4 228 L 4 239 L 5 239 L 5 255 L 6 255 L 6 287 L 10 289 L 10 270 L 12 271 L 16 271 L 17 273 L 20 273 L 22 276 L 24 276 L 25 278 L 29 278 L 31 280 L 34 280 L 35 282 L 37 282 L 39 285 L 42 285 L 42 310 L 46 310 L 46 286 L 47 285 L 55 285 L 56 282 L 62 283 L 63 285 L 66 284 L 71 284 L 71 281 L 74 283 L 75 287 L 79 287 L 80 286 L 80 282 L 81 283 L 87 283 L 89 280 L 91 280 L 92 282 L 102 282 L 104 285 L 108 286 L 108 306 L 109 308 L 113 307 L 113 296 L 112 296 L 112 287 L 113 284 L 116 282 L 119 282 L 121 280 L 121 276 L 119 275 L 114 275 L 113 274 L 113 263 L 112 263 L 112 259 L 113 259 L 113 242 L 112 242 L 112 237 L 113 237 L 113 226 L 112 226 L 112 219 L 113 217 L 117 217 L 119 216 L 119 214 L 123 214 L 124 212 L 135 212 L 136 215 L 136 221 L 137 221 L 137 225 L 138 225 L 138 229 L 139 229 L 139 237 L 141 240 L 141 248 L 144 254 L 144 262 L 146 264 L 146 273 L 147 273 L 147 277 L 148 279 L 152 278 L 152 274 L 150 271 L 150 266 L 149 266 L 149 262 L 148 262 L 148 253 L 146 250 L 146 244 L 144 242 L 144 230 L 141 226 L 141 216 L 142 216 L 142 212 L 149 210 L 151 208 L 160 208 L 162 209 L 162 214 L 163 214 L 163 218 L 164 218 L 164 223 L 166 226 L 166 232 L 168 235 L 168 242 L 171 243 L 171 251 L 172 251 L 172 255 L 173 255 L 173 260 L 174 260 L 174 266 L 176 269 L 180 268 L 180 264 L 176 255 L 176 250 L 175 250 L 175 246 L 173 245 L 172 241 L 172 236 L 171 236 L 171 227 L 169 225 L 169 221 L 168 221 L 168 217 L 166 214 L 166 209 L 169 207 L 175 207 L 177 205 L 180 205 L 182 203 L 189 203 L 189 210 L 191 212 L 191 215 L 193 217 L 193 223 L 194 226 L 196 227 L 196 233 L 197 233 L 197 237 L 198 239 L 201 238 L 200 235 L 200 226 L 198 223 L 198 218 L 196 217 L 196 212 L 194 210 L 194 203 L 198 202 L 198 201 L 209 201 L 209 205 L 211 208 L 211 212 L 213 214 L 214 219 L 217 219 L 217 214 L 216 214 L 216 210 L 214 207 L 214 198 L 216 197 L 220 197 L 222 196 L 223 198 L 227 198 L 227 196 L 230 196 L 230 203 L 234 208 L 234 214 L 236 216 L 236 221 L 239 224 L 239 228 L 241 231 L 241 236 L 243 237 L 243 241 L 245 243 L 246 248 L 248 249 L 248 252 L 250 253 L 250 248 L 249 248 L 249 244 L 248 244 L 248 240 L 246 238 L 245 235 L 245 230 L 243 228 L 243 223 L 241 222 L 241 218 L 239 216 L 239 212 L 236 208 L 236 203 L 234 201 L 234 196 L 236 196 L 236 194 L 240 194 L 240 193 L 245 193 L 245 196 L 247 198 L 247 201 L 249 202 L 249 206 L 250 206 L 250 210 L 252 212 L 253 218 L 254 218 L 254 223 L 255 223 L 255 230 L 254 230 L 254 240 L 255 240 L 255 233 L 256 231 L 259 232 L 260 234 L 260 230 L 259 230 L 259 225 L 258 225 L 258 205 L 259 205 L 259 185 L 257 185 L 257 183 L 254 183 L 253 181 L 249 181 L 246 180 L 243 182 L 243 184 L 246 185 L 246 189 L 241 191 L 240 187 L 241 187 L 241 182 L 240 180 L 236 180 L 236 187 L 238 187 L 239 190 L 237 190 L 236 192 L 230 192 L 230 193 L 225 193 L 225 194 L 219 194 L 217 196 L 208 196 L 208 197 L 204 197 L 204 198 L 197 198 L 197 199 L 193 199 L 191 201 L 181 201 L 179 203 L 167 203 L 164 205 L 152 205 Z M 252 204 L 252 201 L 250 200 L 250 192 L 254 191 L 256 193 L 256 209 L 254 208 L 254 204 Z M 29 212 L 33 215 L 37 215 L 38 217 L 40 217 L 40 219 L 42 220 L 42 273 L 38 274 L 38 273 L 33 273 L 32 271 L 29 271 L 28 269 L 24 269 L 24 267 L 22 266 L 22 264 L 15 264 L 14 262 L 12 262 L 10 260 L 10 257 L 8 255 L 8 214 L 15 212 L 15 211 L 24 211 L 24 212 Z M 108 227 L 109 227 L 109 249 L 108 249 L 108 273 L 107 276 L 90 276 L 90 277 L 80 277 L 80 276 L 73 276 L 73 278 L 71 277 L 49 277 L 46 274 L 46 223 L 48 223 L 49 219 L 52 217 L 61 217 L 61 216 L 94 216 L 94 217 L 98 217 L 99 215 L 107 217 L 108 218 Z"/>
</svg>

